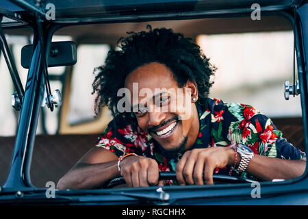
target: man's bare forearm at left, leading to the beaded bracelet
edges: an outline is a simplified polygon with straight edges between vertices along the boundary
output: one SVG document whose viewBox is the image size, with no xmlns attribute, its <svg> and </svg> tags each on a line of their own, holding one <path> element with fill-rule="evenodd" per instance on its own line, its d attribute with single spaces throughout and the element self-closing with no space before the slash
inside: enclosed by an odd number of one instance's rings
<svg viewBox="0 0 308 219">
<path fill-rule="evenodd" d="M 117 160 L 101 164 L 77 164 L 60 179 L 57 188 L 60 190 L 101 188 L 106 181 L 120 177 L 117 164 Z"/>
</svg>

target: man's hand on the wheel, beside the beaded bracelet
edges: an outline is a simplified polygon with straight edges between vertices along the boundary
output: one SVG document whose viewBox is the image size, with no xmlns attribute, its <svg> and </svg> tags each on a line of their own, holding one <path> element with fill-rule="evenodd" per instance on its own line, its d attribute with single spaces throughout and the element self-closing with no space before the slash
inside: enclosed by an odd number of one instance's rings
<svg viewBox="0 0 308 219">
<path fill-rule="evenodd" d="M 120 162 L 120 175 L 130 187 L 161 185 L 158 172 L 157 162 L 148 157 L 130 156 Z"/>
</svg>

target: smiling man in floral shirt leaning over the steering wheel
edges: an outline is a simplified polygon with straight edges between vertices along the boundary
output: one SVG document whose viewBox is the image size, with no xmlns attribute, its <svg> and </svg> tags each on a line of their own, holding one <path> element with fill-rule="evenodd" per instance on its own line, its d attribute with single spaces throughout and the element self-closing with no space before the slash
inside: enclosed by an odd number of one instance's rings
<svg viewBox="0 0 308 219">
<path fill-rule="evenodd" d="M 114 120 L 57 188 L 101 188 L 120 176 L 139 187 L 213 184 L 216 173 L 262 181 L 302 175 L 305 153 L 270 118 L 208 97 L 215 70 L 198 45 L 171 29 L 120 40 L 93 83 L 97 113 L 108 106 Z M 159 181 L 159 171 L 176 172 L 177 182 Z"/>
</svg>

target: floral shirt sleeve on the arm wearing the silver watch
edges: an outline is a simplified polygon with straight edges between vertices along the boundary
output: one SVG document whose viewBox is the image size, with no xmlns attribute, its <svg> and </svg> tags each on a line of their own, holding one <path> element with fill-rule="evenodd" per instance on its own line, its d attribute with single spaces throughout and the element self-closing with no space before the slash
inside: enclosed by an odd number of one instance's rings
<svg viewBox="0 0 308 219">
<path fill-rule="evenodd" d="M 244 144 L 255 154 L 267 157 L 281 159 L 306 157 L 305 152 L 283 138 L 283 133 L 268 116 L 261 114 L 251 105 L 231 103 L 228 104 L 228 111 L 233 115 L 228 136 L 231 142 Z"/>
</svg>

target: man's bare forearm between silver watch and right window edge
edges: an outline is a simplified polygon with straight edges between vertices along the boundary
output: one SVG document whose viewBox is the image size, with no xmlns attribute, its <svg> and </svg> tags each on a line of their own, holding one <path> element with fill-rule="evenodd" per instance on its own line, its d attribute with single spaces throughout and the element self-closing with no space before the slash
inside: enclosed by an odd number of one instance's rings
<svg viewBox="0 0 308 219">
<path fill-rule="evenodd" d="M 240 157 L 240 156 L 239 156 Z M 254 155 L 249 162 L 246 172 L 264 181 L 272 179 L 293 179 L 305 172 L 304 160 L 279 159 Z"/>
</svg>

